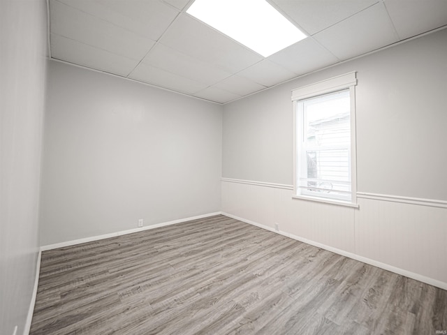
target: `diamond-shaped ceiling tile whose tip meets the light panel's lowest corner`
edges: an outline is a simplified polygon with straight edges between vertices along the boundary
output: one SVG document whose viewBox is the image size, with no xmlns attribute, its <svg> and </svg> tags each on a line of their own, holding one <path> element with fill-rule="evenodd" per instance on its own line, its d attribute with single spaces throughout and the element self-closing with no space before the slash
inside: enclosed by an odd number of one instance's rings
<svg viewBox="0 0 447 335">
<path fill-rule="evenodd" d="M 270 87 L 274 84 L 278 84 L 279 82 L 284 82 L 296 77 L 296 74 L 292 71 L 286 70 L 285 68 L 274 64 L 268 59 L 264 59 L 263 61 L 240 71 L 237 75 L 246 77 L 266 87 Z"/>
</svg>

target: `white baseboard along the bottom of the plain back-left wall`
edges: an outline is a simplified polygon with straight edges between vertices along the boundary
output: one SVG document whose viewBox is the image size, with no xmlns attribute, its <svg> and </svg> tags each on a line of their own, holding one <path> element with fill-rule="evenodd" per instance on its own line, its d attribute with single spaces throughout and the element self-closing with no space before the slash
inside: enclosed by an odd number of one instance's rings
<svg viewBox="0 0 447 335">
<path fill-rule="evenodd" d="M 73 241 L 65 241 L 65 242 L 56 243 L 56 244 L 48 244 L 47 246 L 41 246 L 41 251 L 47 251 L 47 250 L 52 250 L 52 249 L 57 249 L 57 248 L 64 248 L 65 246 L 74 246 L 76 244 L 82 244 L 82 243 L 91 242 L 91 241 L 99 241 L 100 239 L 109 239 L 110 237 L 117 237 L 117 236 L 121 236 L 121 235 L 125 235 L 125 234 L 132 234 L 133 232 L 142 232 L 143 230 L 165 227 L 166 225 L 175 225 L 176 223 L 197 220 L 198 218 L 207 218 L 209 216 L 216 216 L 219 214 L 222 214 L 222 213 L 220 211 L 217 211 L 217 212 L 209 213 L 209 214 L 191 216 L 189 218 L 179 218 L 178 220 L 174 220 L 174 221 L 156 223 L 155 225 L 147 225 L 147 226 L 141 227 L 141 228 L 133 228 L 133 229 L 129 229 L 129 230 L 122 230 L 119 232 L 111 232 L 109 234 L 85 237 L 83 239 L 74 239 Z"/>
</svg>

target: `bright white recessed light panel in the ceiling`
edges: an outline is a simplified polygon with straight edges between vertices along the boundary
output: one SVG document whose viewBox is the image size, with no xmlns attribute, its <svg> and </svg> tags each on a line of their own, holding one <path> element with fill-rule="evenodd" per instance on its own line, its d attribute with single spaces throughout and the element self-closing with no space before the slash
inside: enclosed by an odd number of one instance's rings
<svg viewBox="0 0 447 335">
<path fill-rule="evenodd" d="M 186 13 L 263 57 L 307 37 L 265 0 L 196 0 Z"/>
</svg>

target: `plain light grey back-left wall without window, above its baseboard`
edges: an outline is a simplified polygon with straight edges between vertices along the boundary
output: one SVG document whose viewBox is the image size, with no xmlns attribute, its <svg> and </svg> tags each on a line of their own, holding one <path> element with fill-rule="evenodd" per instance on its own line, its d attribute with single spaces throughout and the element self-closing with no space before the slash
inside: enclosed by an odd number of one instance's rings
<svg viewBox="0 0 447 335">
<path fill-rule="evenodd" d="M 222 106 L 49 61 L 41 244 L 220 210 Z"/>
</svg>

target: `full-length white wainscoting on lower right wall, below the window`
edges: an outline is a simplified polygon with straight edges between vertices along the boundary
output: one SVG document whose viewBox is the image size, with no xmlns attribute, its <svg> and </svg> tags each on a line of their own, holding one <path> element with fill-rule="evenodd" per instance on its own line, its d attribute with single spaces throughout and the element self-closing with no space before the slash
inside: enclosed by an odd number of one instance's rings
<svg viewBox="0 0 447 335">
<path fill-rule="evenodd" d="M 291 189 L 274 184 L 223 179 L 221 186 L 223 214 L 268 230 L 276 223 L 280 234 L 447 289 L 447 208 L 437 200 L 365 193 L 357 209 L 292 199 Z"/>
</svg>

